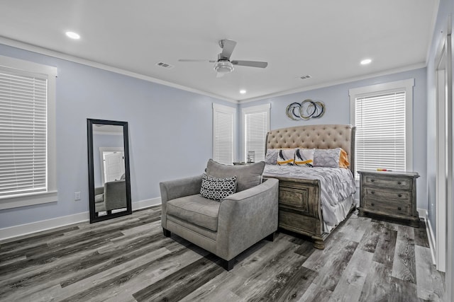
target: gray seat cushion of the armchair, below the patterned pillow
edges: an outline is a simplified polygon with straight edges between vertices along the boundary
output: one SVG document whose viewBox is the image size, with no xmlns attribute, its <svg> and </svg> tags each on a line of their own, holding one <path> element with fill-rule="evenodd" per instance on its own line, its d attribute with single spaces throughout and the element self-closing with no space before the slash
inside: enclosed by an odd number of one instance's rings
<svg viewBox="0 0 454 302">
<path fill-rule="evenodd" d="M 167 202 L 167 214 L 211 231 L 218 231 L 220 202 L 199 194 L 172 199 Z"/>
</svg>

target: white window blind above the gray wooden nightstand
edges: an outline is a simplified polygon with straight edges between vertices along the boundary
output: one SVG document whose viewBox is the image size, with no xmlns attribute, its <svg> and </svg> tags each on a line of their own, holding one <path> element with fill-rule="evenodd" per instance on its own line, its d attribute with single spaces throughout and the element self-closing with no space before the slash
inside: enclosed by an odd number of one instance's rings
<svg viewBox="0 0 454 302">
<path fill-rule="evenodd" d="M 355 98 L 357 170 L 406 170 L 406 93 Z"/>
</svg>

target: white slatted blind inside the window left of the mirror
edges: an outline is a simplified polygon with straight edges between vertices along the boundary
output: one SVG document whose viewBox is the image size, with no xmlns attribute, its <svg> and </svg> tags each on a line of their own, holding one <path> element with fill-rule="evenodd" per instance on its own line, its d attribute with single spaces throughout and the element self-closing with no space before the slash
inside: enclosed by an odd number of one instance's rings
<svg viewBox="0 0 454 302">
<path fill-rule="evenodd" d="M 47 191 L 48 80 L 0 70 L 0 195 Z"/>
</svg>

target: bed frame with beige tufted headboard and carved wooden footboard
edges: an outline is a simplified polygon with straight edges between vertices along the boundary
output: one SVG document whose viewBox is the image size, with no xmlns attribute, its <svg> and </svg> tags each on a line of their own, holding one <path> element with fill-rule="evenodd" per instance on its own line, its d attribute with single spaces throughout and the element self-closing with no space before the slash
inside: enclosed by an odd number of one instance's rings
<svg viewBox="0 0 454 302">
<path fill-rule="evenodd" d="M 350 124 L 319 124 L 288 127 L 267 133 L 266 149 L 335 149 L 348 153 L 350 170 L 355 173 L 355 127 Z M 268 177 L 268 176 L 267 176 Z M 279 179 L 279 228 L 310 236 L 314 248 L 323 250 L 329 233 L 323 232 L 320 181 Z M 349 211 L 355 209 L 355 202 Z M 332 231 L 331 231 L 332 232 Z"/>
</svg>

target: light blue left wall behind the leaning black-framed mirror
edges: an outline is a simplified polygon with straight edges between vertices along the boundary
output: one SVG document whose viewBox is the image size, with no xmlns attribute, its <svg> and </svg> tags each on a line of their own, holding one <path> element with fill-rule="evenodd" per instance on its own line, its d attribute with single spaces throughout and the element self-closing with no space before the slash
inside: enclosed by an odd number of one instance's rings
<svg viewBox="0 0 454 302">
<path fill-rule="evenodd" d="M 212 157 L 212 105 L 236 104 L 0 45 L 0 54 L 58 69 L 58 202 L 0 211 L 0 228 L 88 211 L 87 118 L 128 122 L 132 201 L 159 182 L 202 173 Z M 82 199 L 74 202 L 74 192 Z"/>
</svg>

